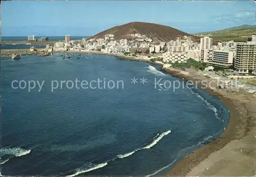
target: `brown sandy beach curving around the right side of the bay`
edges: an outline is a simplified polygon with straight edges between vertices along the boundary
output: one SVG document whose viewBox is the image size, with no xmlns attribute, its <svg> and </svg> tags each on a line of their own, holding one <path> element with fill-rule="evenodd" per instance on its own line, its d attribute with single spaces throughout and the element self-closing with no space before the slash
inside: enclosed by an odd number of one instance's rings
<svg viewBox="0 0 256 177">
<path fill-rule="evenodd" d="M 207 82 L 208 79 L 190 70 L 187 75 L 177 69 L 166 69 L 175 77 Z M 206 89 L 229 109 L 230 118 L 223 134 L 216 141 L 188 154 L 166 176 L 253 176 L 255 175 L 255 97 L 241 91 Z"/>
</svg>

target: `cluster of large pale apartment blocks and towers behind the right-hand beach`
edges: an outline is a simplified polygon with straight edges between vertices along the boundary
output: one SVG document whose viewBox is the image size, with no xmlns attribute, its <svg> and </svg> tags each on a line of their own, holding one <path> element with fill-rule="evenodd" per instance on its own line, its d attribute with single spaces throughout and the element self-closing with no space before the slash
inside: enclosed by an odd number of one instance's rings
<svg viewBox="0 0 256 177">
<path fill-rule="evenodd" d="M 162 54 L 162 58 L 168 63 L 182 63 L 192 58 L 223 68 L 234 65 L 239 73 L 256 70 L 255 35 L 249 37 L 247 42 L 219 42 L 217 46 L 213 46 L 212 43 L 213 39 L 209 36 L 202 37 L 200 44 L 191 40 L 168 42 L 168 50 Z"/>
</svg>

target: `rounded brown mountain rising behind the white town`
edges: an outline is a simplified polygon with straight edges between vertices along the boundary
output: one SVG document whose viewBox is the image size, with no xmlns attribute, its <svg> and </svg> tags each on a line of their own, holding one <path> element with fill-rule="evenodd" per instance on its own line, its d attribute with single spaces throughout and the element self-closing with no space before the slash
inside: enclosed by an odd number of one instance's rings
<svg viewBox="0 0 256 177">
<path fill-rule="evenodd" d="M 150 24 L 144 22 L 131 22 L 121 26 L 116 26 L 102 31 L 90 38 L 104 38 L 106 34 L 114 34 L 115 39 L 133 39 L 129 34 L 142 34 L 153 39 L 153 42 L 175 40 L 177 37 L 191 36 L 193 40 L 198 41 L 200 38 L 172 27 Z M 90 39 L 88 38 L 88 39 Z"/>
</svg>

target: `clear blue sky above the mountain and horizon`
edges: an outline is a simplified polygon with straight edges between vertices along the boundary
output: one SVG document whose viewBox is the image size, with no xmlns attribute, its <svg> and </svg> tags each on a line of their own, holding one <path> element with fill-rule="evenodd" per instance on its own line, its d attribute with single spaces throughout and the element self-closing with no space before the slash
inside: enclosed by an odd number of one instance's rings
<svg viewBox="0 0 256 177">
<path fill-rule="evenodd" d="M 91 36 L 144 21 L 187 33 L 255 25 L 252 1 L 6 1 L 2 36 Z"/>
</svg>

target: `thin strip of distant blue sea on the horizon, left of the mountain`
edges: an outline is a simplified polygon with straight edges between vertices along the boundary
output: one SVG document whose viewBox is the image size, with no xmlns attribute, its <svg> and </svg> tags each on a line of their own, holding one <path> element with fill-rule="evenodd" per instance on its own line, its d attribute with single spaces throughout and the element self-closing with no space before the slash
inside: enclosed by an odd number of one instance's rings
<svg viewBox="0 0 256 177">
<path fill-rule="evenodd" d="M 50 41 L 65 40 L 65 36 L 35 36 L 35 38 L 49 37 Z M 70 40 L 79 40 L 88 36 L 70 36 Z M 28 36 L 2 36 L 2 41 L 27 41 Z"/>
</svg>

